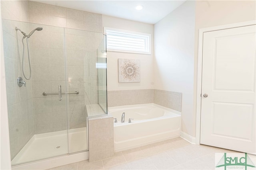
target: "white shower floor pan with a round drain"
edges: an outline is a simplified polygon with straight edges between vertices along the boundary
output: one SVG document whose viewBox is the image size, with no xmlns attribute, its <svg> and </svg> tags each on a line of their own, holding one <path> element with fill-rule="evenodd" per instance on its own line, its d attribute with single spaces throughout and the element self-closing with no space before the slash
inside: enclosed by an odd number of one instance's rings
<svg viewBox="0 0 256 170">
<path fill-rule="evenodd" d="M 87 150 L 86 127 L 34 135 L 12 160 L 12 165 Z M 69 151 L 68 151 L 69 145 Z"/>
</svg>

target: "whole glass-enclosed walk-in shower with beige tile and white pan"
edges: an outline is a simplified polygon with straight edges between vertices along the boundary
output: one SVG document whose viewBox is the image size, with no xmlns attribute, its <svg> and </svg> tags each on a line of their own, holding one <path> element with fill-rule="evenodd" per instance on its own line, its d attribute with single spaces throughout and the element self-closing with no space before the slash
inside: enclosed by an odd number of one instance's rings
<svg viewBox="0 0 256 170">
<path fill-rule="evenodd" d="M 88 150 L 87 117 L 107 108 L 105 35 L 12 20 L 2 25 L 12 165 Z M 17 77 L 27 79 L 20 80 L 26 88 Z"/>
</svg>

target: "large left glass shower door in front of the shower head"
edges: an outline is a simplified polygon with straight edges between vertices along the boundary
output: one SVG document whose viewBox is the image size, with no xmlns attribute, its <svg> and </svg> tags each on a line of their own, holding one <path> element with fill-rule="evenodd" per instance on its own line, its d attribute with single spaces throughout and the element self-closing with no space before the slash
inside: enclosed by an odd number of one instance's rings
<svg viewBox="0 0 256 170">
<path fill-rule="evenodd" d="M 2 23 L 12 165 L 68 154 L 64 28 Z M 29 51 L 25 37 L 23 52 L 24 34 L 15 27 L 26 35 L 42 27 L 28 38 Z M 23 57 L 26 76 L 31 67 L 30 80 L 22 73 Z M 18 77 L 24 81 L 21 87 Z"/>
</svg>

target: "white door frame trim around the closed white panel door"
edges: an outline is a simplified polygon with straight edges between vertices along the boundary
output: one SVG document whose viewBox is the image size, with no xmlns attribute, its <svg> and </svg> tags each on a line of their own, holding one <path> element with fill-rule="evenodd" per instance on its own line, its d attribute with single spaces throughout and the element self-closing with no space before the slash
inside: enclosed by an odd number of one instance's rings
<svg viewBox="0 0 256 170">
<path fill-rule="evenodd" d="M 198 38 L 198 65 L 197 65 L 197 91 L 196 91 L 196 145 L 200 145 L 200 126 L 201 126 L 201 91 L 202 91 L 202 57 L 203 57 L 203 33 L 217 31 L 221 29 L 230 29 L 235 27 L 244 27 L 256 25 L 256 20 L 232 23 L 227 25 L 218 25 L 199 29 Z"/>
</svg>

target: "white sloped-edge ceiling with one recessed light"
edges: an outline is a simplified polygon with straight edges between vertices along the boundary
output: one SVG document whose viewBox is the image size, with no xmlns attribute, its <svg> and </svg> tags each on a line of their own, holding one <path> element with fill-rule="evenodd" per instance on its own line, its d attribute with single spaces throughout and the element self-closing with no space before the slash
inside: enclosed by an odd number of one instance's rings
<svg viewBox="0 0 256 170">
<path fill-rule="evenodd" d="M 94 12 L 98 14 L 124 18 L 154 24 L 175 10 L 185 0 L 35 0 L 45 4 L 52 4 Z M 144 8 L 135 9 L 138 4 Z"/>
</svg>

